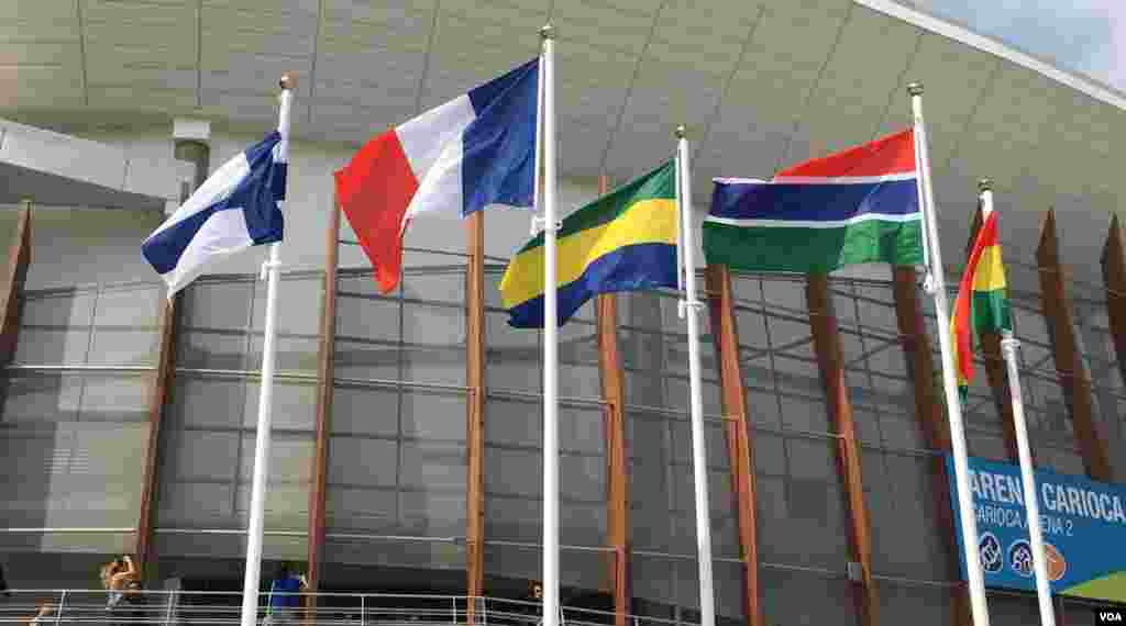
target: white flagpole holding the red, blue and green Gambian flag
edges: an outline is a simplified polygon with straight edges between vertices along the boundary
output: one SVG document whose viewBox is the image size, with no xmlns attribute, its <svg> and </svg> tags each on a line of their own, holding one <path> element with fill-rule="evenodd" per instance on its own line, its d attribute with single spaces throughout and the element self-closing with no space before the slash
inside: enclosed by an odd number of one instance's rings
<svg viewBox="0 0 1126 626">
<path fill-rule="evenodd" d="M 926 206 L 923 221 L 929 237 L 930 266 L 926 282 L 927 290 L 935 298 L 935 317 L 938 321 L 938 345 L 942 352 L 942 388 L 946 391 L 946 415 L 950 420 L 950 447 L 954 452 L 954 473 L 958 492 L 958 520 L 962 524 L 962 544 L 965 550 L 966 578 L 969 583 L 969 608 L 974 626 L 989 626 L 989 606 L 985 602 L 985 581 L 982 574 L 977 550 L 977 519 L 974 516 L 973 492 L 969 490 L 969 463 L 966 459 L 966 432 L 962 424 L 962 400 L 958 383 L 954 378 L 954 353 L 950 343 L 950 307 L 946 294 L 946 275 L 942 269 L 942 253 L 938 245 L 938 221 L 935 215 L 935 190 L 930 182 L 930 155 L 927 146 L 927 128 L 922 119 L 922 84 L 908 85 L 911 94 L 911 112 L 914 118 L 915 158 L 920 165 L 919 184 Z"/>
</svg>

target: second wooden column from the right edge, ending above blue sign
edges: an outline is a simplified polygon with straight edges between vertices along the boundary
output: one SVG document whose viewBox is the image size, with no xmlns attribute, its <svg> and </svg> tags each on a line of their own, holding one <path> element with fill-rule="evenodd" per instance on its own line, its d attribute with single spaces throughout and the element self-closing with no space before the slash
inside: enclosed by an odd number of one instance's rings
<svg viewBox="0 0 1126 626">
<path fill-rule="evenodd" d="M 1040 274 L 1040 309 L 1052 336 L 1052 355 L 1060 384 L 1064 389 L 1064 394 L 1071 400 L 1071 421 L 1075 428 L 1075 439 L 1083 455 L 1087 475 L 1110 482 L 1114 480 L 1114 472 L 1107 454 L 1107 442 L 1094 420 L 1090 374 L 1083 365 L 1083 357 L 1075 342 L 1071 300 L 1064 285 L 1066 279 L 1060 262 L 1054 210 L 1048 210 L 1044 220 L 1039 247 L 1036 250 L 1036 264 Z"/>
</svg>

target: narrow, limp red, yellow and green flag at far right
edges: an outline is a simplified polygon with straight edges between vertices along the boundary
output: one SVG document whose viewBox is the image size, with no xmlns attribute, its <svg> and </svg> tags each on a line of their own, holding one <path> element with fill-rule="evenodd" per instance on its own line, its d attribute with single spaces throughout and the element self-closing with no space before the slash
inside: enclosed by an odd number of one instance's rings
<svg viewBox="0 0 1126 626">
<path fill-rule="evenodd" d="M 985 216 L 966 272 L 962 275 L 958 298 L 954 301 L 950 336 L 954 337 L 954 369 L 958 378 L 958 394 L 966 401 L 969 382 L 974 379 L 973 333 L 1011 330 L 1009 298 L 1006 293 L 1004 266 L 1001 264 L 1001 244 L 997 236 L 997 211 Z"/>
</svg>

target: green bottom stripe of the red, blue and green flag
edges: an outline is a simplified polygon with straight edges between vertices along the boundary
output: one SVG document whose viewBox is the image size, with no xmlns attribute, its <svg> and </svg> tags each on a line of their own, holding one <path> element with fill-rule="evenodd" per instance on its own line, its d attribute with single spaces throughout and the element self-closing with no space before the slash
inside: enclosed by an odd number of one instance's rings
<svg viewBox="0 0 1126 626">
<path fill-rule="evenodd" d="M 856 263 L 922 263 L 921 221 L 868 220 L 839 228 L 704 223 L 707 263 L 748 272 L 828 273 Z"/>
</svg>

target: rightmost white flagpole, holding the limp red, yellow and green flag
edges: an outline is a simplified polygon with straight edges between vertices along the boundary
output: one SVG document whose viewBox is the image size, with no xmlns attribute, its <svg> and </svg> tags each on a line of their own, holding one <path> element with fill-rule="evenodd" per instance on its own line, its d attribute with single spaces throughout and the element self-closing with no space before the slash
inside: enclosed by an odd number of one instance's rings
<svg viewBox="0 0 1126 626">
<path fill-rule="evenodd" d="M 982 220 L 993 212 L 993 182 L 982 179 L 977 183 L 982 199 Z M 1009 393 L 1012 399 L 1012 425 L 1017 432 L 1017 452 L 1020 456 L 1020 482 L 1025 493 L 1025 517 L 1028 521 L 1028 538 L 1033 548 L 1033 571 L 1036 573 L 1036 598 L 1040 604 L 1040 625 L 1055 626 L 1055 607 L 1052 606 L 1052 588 L 1048 586 L 1048 569 L 1045 561 L 1044 534 L 1040 530 L 1040 507 L 1036 491 L 1036 475 L 1033 473 L 1033 453 L 1028 445 L 1028 424 L 1025 421 L 1025 402 L 1020 392 L 1020 369 L 1017 366 L 1017 350 L 1020 342 L 1011 330 L 1004 332 L 1001 352 L 1009 370 Z"/>
</svg>

